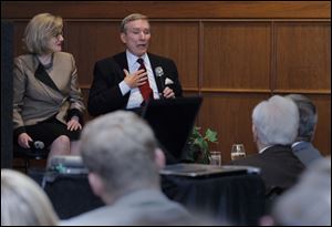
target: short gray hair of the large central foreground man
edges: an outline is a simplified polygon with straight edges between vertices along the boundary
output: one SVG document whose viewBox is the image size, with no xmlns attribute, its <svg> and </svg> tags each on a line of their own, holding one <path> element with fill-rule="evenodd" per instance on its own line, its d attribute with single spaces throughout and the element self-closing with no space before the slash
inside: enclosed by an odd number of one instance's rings
<svg viewBox="0 0 332 227">
<path fill-rule="evenodd" d="M 159 186 L 157 141 L 135 113 L 116 111 L 89 122 L 81 141 L 84 164 L 103 179 L 108 193 Z"/>
</svg>

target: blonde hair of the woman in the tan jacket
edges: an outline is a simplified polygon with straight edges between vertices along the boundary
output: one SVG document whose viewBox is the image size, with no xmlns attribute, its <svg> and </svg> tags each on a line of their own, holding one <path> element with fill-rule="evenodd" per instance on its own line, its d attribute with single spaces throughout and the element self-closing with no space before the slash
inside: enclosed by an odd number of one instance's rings
<svg viewBox="0 0 332 227">
<path fill-rule="evenodd" d="M 62 32 L 63 21 L 61 17 L 51 13 L 34 16 L 28 23 L 23 41 L 30 53 L 50 53 L 49 41 Z"/>
</svg>

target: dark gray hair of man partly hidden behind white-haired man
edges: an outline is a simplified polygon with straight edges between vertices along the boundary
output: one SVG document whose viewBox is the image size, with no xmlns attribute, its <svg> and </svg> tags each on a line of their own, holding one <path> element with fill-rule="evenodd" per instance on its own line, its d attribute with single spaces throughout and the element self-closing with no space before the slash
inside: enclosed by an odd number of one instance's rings
<svg viewBox="0 0 332 227">
<path fill-rule="evenodd" d="M 299 109 L 300 124 L 297 141 L 311 142 L 318 122 L 315 105 L 311 100 L 301 94 L 289 94 L 286 97 L 294 101 Z"/>
</svg>

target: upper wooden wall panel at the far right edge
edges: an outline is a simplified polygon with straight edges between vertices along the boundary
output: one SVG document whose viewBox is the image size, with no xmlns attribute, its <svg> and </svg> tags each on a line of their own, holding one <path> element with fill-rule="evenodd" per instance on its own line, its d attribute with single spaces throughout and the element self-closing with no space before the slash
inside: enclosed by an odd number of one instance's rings
<svg viewBox="0 0 332 227">
<path fill-rule="evenodd" d="M 277 23 L 277 89 L 331 91 L 331 24 Z"/>
</svg>

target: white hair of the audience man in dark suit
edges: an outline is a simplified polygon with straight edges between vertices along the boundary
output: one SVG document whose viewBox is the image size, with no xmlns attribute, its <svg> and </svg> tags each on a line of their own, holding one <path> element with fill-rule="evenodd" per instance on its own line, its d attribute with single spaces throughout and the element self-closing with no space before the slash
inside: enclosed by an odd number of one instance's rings
<svg viewBox="0 0 332 227">
<path fill-rule="evenodd" d="M 298 134 L 299 111 L 290 99 L 273 95 L 253 109 L 252 124 L 260 143 L 290 145 Z"/>
</svg>

